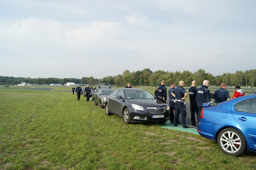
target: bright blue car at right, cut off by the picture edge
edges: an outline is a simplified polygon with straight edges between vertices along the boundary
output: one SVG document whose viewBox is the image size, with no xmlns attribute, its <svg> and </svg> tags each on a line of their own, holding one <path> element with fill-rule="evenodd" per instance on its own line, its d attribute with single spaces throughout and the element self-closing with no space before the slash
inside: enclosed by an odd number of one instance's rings
<svg viewBox="0 0 256 170">
<path fill-rule="evenodd" d="M 256 95 L 205 103 L 197 132 L 217 142 L 225 154 L 256 152 Z"/>
</svg>

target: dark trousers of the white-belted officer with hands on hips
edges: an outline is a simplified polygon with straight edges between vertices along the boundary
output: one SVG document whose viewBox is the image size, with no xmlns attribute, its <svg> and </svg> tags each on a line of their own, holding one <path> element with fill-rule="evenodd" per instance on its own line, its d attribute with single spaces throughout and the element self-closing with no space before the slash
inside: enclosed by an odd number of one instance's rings
<svg viewBox="0 0 256 170">
<path fill-rule="evenodd" d="M 181 122 L 182 122 L 182 127 L 187 126 L 186 123 L 186 106 L 184 105 L 184 102 L 179 102 L 179 101 L 175 101 L 175 114 L 174 114 L 174 120 L 173 120 L 173 125 L 177 125 L 178 124 L 178 119 L 179 116 L 181 114 Z"/>
</svg>

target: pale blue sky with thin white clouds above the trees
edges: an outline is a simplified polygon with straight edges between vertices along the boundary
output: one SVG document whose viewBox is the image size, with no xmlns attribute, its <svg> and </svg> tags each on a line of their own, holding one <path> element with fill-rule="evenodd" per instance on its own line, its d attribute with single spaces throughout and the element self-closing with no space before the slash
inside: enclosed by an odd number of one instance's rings
<svg viewBox="0 0 256 170">
<path fill-rule="evenodd" d="M 0 76 L 255 69 L 255 0 L 0 0 Z"/>
</svg>

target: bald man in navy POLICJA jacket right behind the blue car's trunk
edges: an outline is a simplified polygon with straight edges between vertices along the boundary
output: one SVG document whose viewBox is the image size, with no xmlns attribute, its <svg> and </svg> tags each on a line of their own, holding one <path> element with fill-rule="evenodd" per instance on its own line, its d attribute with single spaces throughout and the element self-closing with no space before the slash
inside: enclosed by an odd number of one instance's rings
<svg viewBox="0 0 256 170">
<path fill-rule="evenodd" d="M 211 102 L 211 93 L 210 90 L 208 89 L 208 86 L 210 85 L 208 80 L 203 81 L 203 85 L 198 88 L 197 90 L 197 106 L 198 106 L 198 120 L 197 124 L 199 123 L 200 120 L 200 114 L 201 110 L 203 108 L 203 103 L 206 102 Z"/>
</svg>

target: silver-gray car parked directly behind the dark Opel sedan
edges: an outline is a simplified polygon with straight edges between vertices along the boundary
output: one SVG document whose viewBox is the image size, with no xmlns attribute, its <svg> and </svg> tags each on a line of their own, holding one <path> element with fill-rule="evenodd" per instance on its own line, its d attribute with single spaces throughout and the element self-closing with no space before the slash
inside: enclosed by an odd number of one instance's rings
<svg viewBox="0 0 256 170">
<path fill-rule="evenodd" d="M 98 103 L 99 103 L 100 107 L 104 108 L 105 107 L 105 102 L 106 102 L 106 97 L 108 95 L 110 95 L 110 93 L 112 93 L 113 91 L 115 91 L 115 89 L 99 88 L 99 91 L 96 93 L 95 98 L 94 98 L 94 105 L 98 105 Z"/>
</svg>

